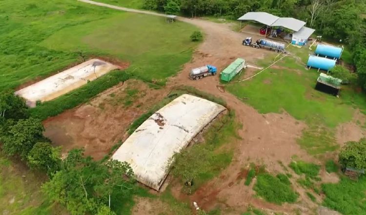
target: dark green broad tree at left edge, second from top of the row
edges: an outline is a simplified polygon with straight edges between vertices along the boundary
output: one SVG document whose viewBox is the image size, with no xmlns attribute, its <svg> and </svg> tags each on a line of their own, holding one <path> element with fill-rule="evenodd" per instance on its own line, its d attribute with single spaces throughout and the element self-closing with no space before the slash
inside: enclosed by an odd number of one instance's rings
<svg viewBox="0 0 366 215">
<path fill-rule="evenodd" d="M 9 156 L 18 154 L 22 160 L 26 160 L 33 146 L 44 140 L 42 134 L 44 128 L 38 119 L 20 119 L 9 129 L 6 136 L 1 138 L 2 148 Z"/>
</svg>

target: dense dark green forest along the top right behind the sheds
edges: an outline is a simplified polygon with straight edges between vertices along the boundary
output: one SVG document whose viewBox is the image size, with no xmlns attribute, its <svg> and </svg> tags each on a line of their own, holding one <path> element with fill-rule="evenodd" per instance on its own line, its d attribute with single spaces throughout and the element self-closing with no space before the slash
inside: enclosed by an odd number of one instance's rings
<svg viewBox="0 0 366 215">
<path fill-rule="evenodd" d="M 352 53 L 361 86 L 366 88 L 365 0 L 145 0 L 144 9 L 187 17 L 215 16 L 237 19 L 249 11 L 306 21 L 332 42 L 342 42 Z"/>
</svg>

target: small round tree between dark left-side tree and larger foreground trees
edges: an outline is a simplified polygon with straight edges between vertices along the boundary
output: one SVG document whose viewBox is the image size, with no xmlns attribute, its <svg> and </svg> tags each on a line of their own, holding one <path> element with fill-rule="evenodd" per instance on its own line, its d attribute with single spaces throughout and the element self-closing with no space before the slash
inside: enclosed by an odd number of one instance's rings
<svg viewBox="0 0 366 215">
<path fill-rule="evenodd" d="M 55 173 L 61 166 L 60 148 L 54 148 L 50 143 L 36 143 L 29 152 L 28 165 L 49 175 Z"/>
</svg>

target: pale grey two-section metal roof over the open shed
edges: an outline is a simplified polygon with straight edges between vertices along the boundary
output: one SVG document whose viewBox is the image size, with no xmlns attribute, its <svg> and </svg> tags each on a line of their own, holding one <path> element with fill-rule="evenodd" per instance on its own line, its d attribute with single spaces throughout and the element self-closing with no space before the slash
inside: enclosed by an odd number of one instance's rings
<svg viewBox="0 0 366 215">
<path fill-rule="evenodd" d="M 266 12 L 248 12 L 240 17 L 238 20 L 257 21 L 268 26 L 281 26 L 293 31 L 299 31 L 306 23 L 305 21 L 297 20 L 290 17 L 277 17 Z"/>
</svg>

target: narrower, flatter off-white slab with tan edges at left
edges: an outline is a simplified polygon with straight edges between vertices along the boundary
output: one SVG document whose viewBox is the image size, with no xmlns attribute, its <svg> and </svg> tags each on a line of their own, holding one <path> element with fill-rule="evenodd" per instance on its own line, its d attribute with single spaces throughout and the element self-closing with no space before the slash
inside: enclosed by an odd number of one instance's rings
<svg viewBox="0 0 366 215">
<path fill-rule="evenodd" d="M 97 79 L 116 68 L 118 68 L 116 65 L 92 59 L 33 85 L 24 87 L 15 92 L 15 94 L 25 98 L 29 107 L 35 107 L 37 101 L 44 102 L 57 98 L 85 85 L 88 80 Z"/>
</svg>

